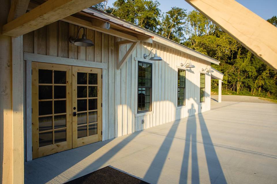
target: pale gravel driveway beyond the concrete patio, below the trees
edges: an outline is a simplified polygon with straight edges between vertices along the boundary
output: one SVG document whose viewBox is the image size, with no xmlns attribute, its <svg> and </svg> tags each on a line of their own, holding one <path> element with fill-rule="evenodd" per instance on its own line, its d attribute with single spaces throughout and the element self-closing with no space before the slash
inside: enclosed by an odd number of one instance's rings
<svg viewBox="0 0 277 184">
<path fill-rule="evenodd" d="M 211 99 L 218 101 L 218 95 L 211 95 Z M 242 95 L 222 95 L 221 100 L 222 101 L 240 101 L 240 102 L 274 104 L 273 102 L 259 99 L 259 97 L 242 96 Z"/>
</svg>

